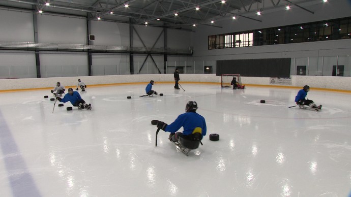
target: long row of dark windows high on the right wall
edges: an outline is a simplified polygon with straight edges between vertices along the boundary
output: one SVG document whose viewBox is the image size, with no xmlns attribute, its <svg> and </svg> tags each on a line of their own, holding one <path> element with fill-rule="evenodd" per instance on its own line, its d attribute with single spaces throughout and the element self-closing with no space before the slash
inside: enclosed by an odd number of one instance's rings
<svg viewBox="0 0 351 197">
<path fill-rule="evenodd" d="M 351 38 L 351 17 L 209 36 L 209 49 Z"/>
</svg>

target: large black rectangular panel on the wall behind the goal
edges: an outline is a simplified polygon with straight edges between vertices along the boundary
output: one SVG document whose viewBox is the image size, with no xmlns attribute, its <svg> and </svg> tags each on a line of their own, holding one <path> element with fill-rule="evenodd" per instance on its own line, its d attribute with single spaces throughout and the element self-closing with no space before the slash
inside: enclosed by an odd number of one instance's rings
<svg viewBox="0 0 351 197">
<path fill-rule="evenodd" d="M 290 58 L 217 60 L 216 75 L 245 77 L 290 77 Z"/>
</svg>

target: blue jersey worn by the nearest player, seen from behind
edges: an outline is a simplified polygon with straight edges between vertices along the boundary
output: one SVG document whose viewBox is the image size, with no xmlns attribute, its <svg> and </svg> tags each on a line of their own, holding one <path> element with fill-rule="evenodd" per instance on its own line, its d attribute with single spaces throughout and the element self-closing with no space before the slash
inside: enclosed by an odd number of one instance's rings
<svg viewBox="0 0 351 197">
<path fill-rule="evenodd" d="M 206 122 L 204 118 L 196 112 L 186 112 L 179 115 L 174 122 L 166 126 L 165 132 L 176 133 L 182 126 L 184 128 L 184 135 L 190 135 L 196 127 L 200 127 L 202 129 L 202 136 L 206 136 Z"/>
</svg>

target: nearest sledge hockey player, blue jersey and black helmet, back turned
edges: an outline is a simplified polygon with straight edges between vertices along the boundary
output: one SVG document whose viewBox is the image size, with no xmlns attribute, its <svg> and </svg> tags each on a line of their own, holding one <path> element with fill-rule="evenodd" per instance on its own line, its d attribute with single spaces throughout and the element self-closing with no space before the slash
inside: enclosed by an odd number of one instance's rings
<svg viewBox="0 0 351 197">
<path fill-rule="evenodd" d="M 178 142 L 180 138 L 184 138 L 191 141 L 200 141 L 203 136 L 206 136 L 206 121 L 198 113 L 197 103 L 195 101 L 189 101 L 185 107 L 185 113 L 178 116 L 171 124 L 166 124 L 159 121 L 157 128 L 170 132 L 169 140 L 172 142 Z M 183 126 L 183 133 L 177 132 Z"/>
</svg>

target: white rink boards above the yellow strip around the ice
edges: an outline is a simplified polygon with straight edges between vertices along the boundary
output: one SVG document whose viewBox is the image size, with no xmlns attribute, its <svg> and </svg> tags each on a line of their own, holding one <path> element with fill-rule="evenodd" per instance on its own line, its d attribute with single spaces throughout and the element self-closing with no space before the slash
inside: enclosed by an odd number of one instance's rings
<svg viewBox="0 0 351 197">
<path fill-rule="evenodd" d="M 52 88 L 57 81 L 60 81 L 66 87 L 75 87 L 78 78 L 87 86 L 125 83 L 147 84 L 150 80 L 154 80 L 156 83 L 174 83 L 173 74 L 3 79 L 0 81 L 0 90 Z M 182 83 L 218 83 L 218 86 L 220 86 L 221 76 L 215 74 L 181 74 L 181 80 Z M 241 77 L 241 81 L 244 85 L 271 85 L 269 77 Z M 350 83 L 351 77 L 291 76 L 291 85 L 287 86 L 301 88 L 304 85 L 309 85 L 311 88 L 351 91 Z M 250 87 L 247 86 L 247 88 Z"/>
</svg>

